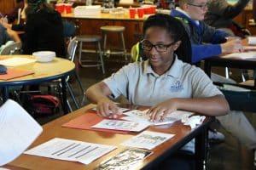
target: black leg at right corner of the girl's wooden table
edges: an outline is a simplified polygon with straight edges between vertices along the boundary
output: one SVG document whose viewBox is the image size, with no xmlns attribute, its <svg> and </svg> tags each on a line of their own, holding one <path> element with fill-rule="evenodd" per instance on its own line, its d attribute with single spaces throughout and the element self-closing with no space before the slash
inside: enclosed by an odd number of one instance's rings
<svg viewBox="0 0 256 170">
<path fill-rule="evenodd" d="M 206 168 L 207 159 L 207 128 L 195 138 L 195 169 L 203 170 Z"/>
</svg>

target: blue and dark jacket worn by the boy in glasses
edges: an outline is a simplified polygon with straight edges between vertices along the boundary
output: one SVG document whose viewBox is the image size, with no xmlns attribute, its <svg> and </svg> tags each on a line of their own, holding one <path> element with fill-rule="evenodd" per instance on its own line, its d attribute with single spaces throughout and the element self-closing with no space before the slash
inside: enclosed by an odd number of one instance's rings
<svg viewBox="0 0 256 170">
<path fill-rule="evenodd" d="M 185 30 L 189 34 L 192 45 L 192 63 L 222 53 L 219 43 L 226 42 L 225 37 L 228 37 L 227 33 L 207 26 L 202 21 L 199 21 L 199 25 L 197 25 L 195 20 L 190 19 L 178 10 L 172 10 L 171 15 L 182 21 Z"/>
</svg>

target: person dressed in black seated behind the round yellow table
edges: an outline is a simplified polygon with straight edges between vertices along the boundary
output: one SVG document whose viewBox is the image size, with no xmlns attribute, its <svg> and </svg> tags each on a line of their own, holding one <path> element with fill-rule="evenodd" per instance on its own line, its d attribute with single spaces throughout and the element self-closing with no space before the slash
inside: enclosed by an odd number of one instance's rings
<svg viewBox="0 0 256 170">
<path fill-rule="evenodd" d="M 35 51 L 55 51 L 57 57 L 66 57 L 61 14 L 46 0 L 27 0 L 23 54 Z"/>
</svg>

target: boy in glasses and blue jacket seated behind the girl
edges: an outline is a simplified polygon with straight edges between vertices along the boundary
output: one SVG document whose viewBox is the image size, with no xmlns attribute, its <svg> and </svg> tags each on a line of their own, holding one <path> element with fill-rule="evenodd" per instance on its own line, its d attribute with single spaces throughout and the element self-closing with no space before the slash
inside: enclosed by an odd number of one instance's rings
<svg viewBox="0 0 256 170">
<path fill-rule="evenodd" d="M 226 41 L 228 35 L 224 31 L 216 30 L 202 21 L 206 13 L 207 0 L 179 0 L 179 8 L 171 12 L 172 16 L 181 20 L 189 34 L 192 44 L 192 63 L 223 53 L 241 52 L 241 40 Z M 216 74 L 212 74 L 211 77 L 213 82 L 236 83 Z M 230 111 L 226 116 L 218 116 L 217 119 L 247 148 L 256 149 L 256 131 L 242 111 Z"/>
</svg>

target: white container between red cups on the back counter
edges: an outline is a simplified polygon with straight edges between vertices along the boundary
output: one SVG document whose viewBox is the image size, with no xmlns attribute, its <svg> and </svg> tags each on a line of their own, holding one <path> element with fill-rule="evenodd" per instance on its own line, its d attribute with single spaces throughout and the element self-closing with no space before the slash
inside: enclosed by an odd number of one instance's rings
<svg viewBox="0 0 256 170">
<path fill-rule="evenodd" d="M 88 16 L 101 14 L 101 5 L 78 6 L 74 8 L 73 14 L 75 16 Z"/>
</svg>

